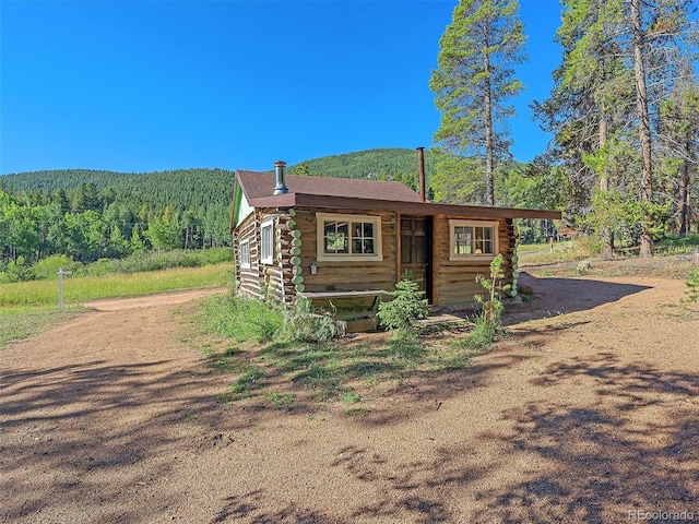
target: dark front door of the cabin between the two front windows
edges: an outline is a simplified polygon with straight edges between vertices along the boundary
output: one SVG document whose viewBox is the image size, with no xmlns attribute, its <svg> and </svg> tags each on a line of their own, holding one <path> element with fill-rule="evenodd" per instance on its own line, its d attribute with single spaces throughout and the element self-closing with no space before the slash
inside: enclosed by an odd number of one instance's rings
<svg viewBox="0 0 699 524">
<path fill-rule="evenodd" d="M 401 216 L 401 273 L 411 273 L 419 282 L 420 290 L 427 300 L 431 297 L 431 272 L 429 271 L 431 251 L 431 217 Z"/>
</svg>

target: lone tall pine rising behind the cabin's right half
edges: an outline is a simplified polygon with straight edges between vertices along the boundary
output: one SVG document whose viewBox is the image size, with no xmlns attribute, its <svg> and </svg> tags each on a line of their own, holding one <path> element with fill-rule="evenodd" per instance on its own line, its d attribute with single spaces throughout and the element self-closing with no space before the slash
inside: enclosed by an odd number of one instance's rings
<svg viewBox="0 0 699 524">
<path fill-rule="evenodd" d="M 445 151 L 483 158 L 487 205 L 495 205 L 496 163 L 509 156 L 510 100 L 523 88 L 513 67 L 525 60 L 524 41 L 517 0 L 461 0 L 429 82 L 442 114 L 435 140 Z"/>
</svg>

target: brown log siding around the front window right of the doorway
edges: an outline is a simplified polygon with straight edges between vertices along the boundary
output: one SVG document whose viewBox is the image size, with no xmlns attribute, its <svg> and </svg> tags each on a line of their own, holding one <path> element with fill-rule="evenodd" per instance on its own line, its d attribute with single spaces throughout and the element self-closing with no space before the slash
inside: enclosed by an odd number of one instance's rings
<svg viewBox="0 0 699 524">
<path fill-rule="evenodd" d="M 435 247 L 439 257 L 439 263 L 436 264 L 437 294 L 439 297 L 436 306 L 457 306 L 470 305 L 474 302 L 473 296 L 483 294 L 485 289 L 476 282 L 478 275 L 487 277 L 490 274 L 490 259 L 484 260 L 449 260 L 450 238 L 449 238 L 449 219 L 473 219 L 477 217 L 435 217 L 434 231 L 437 235 Z M 498 250 L 505 258 L 505 283 L 512 282 L 511 258 L 514 252 L 514 228 L 512 221 L 500 219 L 498 226 Z M 509 222 L 509 224 L 508 224 Z"/>
</svg>

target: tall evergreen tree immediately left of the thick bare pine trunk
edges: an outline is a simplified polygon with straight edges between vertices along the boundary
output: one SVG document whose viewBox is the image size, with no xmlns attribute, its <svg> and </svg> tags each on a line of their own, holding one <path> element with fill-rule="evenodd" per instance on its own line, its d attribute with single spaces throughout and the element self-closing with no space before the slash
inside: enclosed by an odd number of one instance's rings
<svg viewBox="0 0 699 524">
<path fill-rule="evenodd" d="M 590 210 L 584 206 L 593 202 L 604 207 L 605 193 L 620 182 L 623 133 L 629 120 L 626 108 L 632 94 L 618 41 L 625 13 L 621 0 L 562 0 L 561 4 L 556 40 L 564 48 L 562 62 L 554 72 L 552 98 L 535 104 L 535 112 L 555 133 L 558 158 L 571 182 L 587 188 L 574 210 L 585 213 Z M 595 186 L 603 194 L 592 199 Z M 611 258 L 613 231 L 602 223 L 597 233 L 602 258 Z"/>
</svg>

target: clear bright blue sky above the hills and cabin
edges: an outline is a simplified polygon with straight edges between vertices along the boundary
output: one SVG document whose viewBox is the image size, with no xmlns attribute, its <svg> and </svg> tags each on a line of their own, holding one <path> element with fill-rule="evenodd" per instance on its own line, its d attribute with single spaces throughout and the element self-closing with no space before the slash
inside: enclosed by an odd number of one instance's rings
<svg viewBox="0 0 699 524">
<path fill-rule="evenodd" d="M 428 81 L 457 0 L 0 2 L 0 174 L 271 169 L 429 147 Z M 556 0 L 520 0 L 530 61 L 510 123 L 518 160 L 549 136 Z"/>
</svg>

